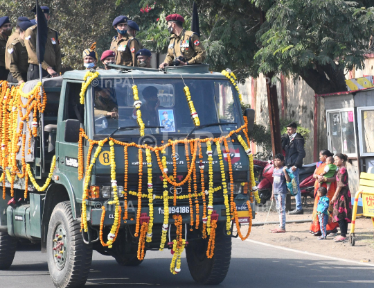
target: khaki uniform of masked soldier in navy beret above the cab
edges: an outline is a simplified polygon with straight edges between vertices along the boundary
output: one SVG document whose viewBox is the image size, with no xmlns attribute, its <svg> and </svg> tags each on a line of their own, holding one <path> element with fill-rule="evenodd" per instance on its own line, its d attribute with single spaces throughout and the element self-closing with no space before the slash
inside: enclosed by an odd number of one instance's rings
<svg viewBox="0 0 374 288">
<path fill-rule="evenodd" d="M 135 37 L 126 34 L 121 40 L 117 36 L 113 37 L 110 50 L 116 53 L 116 65 L 138 66 L 135 54 L 143 45 Z"/>
</svg>

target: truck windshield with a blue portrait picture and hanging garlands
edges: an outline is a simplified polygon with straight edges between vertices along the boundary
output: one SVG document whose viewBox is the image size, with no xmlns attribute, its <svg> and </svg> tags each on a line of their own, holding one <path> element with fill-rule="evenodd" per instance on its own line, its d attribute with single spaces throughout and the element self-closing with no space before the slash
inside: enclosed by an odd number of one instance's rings
<svg viewBox="0 0 374 288">
<path fill-rule="evenodd" d="M 121 79 L 122 80 L 122 79 Z M 99 81 L 94 87 L 95 134 L 109 135 L 118 127 L 136 126 L 132 85 L 118 85 L 118 79 Z M 184 79 L 202 126 L 213 123 L 236 123 L 209 126 L 195 133 L 225 133 L 242 125 L 237 92 L 222 80 Z M 135 79 L 139 90 L 141 118 L 146 134 L 188 134 L 195 127 L 181 79 Z M 139 129 L 120 130 L 116 135 L 139 135 Z"/>
</svg>

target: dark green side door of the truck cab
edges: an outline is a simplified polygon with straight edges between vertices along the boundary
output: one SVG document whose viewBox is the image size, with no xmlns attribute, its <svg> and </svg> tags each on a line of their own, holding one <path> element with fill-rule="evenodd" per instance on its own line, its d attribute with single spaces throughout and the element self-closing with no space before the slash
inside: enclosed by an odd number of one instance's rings
<svg viewBox="0 0 374 288">
<path fill-rule="evenodd" d="M 57 124 L 56 153 L 58 158 L 56 167 L 66 176 L 73 189 L 78 192 L 82 190 L 78 189 L 82 185 L 82 181 L 78 181 L 78 143 L 64 142 L 64 134 L 66 120 L 79 120 L 82 125 L 84 124 L 84 105 L 81 105 L 79 101 L 82 83 L 66 81 L 64 84 L 62 87 L 62 95 L 64 96 L 60 99 L 62 111 L 58 115 Z"/>
</svg>

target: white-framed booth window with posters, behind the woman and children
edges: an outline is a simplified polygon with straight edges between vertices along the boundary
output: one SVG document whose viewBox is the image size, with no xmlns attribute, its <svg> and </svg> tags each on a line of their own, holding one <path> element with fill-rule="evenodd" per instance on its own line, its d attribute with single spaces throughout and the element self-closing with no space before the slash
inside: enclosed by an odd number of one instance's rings
<svg viewBox="0 0 374 288">
<path fill-rule="evenodd" d="M 348 157 L 357 157 L 355 114 L 353 108 L 328 110 L 328 149 L 344 153 Z"/>
</svg>

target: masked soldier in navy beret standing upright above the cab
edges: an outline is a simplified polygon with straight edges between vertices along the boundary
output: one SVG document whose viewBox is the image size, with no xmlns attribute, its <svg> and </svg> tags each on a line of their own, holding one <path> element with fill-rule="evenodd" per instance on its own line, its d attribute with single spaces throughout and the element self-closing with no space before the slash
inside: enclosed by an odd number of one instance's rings
<svg viewBox="0 0 374 288">
<path fill-rule="evenodd" d="M 127 33 L 127 17 L 123 15 L 116 17 L 112 25 L 118 33 L 110 44 L 110 50 L 116 53 L 116 65 L 132 66 L 132 57 L 127 46 L 130 40 L 130 35 Z"/>
</svg>

